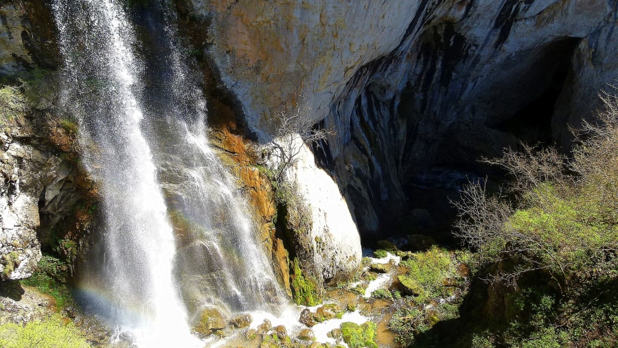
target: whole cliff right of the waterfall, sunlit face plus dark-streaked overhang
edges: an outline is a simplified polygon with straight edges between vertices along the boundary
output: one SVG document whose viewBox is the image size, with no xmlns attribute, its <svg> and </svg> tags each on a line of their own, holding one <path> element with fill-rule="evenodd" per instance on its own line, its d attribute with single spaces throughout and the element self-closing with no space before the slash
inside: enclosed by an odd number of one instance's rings
<svg viewBox="0 0 618 348">
<path fill-rule="evenodd" d="M 422 208 L 413 184 L 569 144 L 618 72 L 617 1 L 180 2 L 258 135 L 295 104 L 336 130 L 319 159 L 369 236 Z"/>
</svg>

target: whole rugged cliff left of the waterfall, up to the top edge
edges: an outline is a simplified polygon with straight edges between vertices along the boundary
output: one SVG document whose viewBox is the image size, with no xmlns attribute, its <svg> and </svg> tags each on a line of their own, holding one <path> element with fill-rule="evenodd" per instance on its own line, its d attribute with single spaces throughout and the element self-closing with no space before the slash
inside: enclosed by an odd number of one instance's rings
<svg viewBox="0 0 618 348">
<path fill-rule="evenodd" d="M 59 56 L 50 8 L 0 5 L 0 273 L 30 277 L 41 248 L 67 272 L 87 246 L 96 190 L 78 160 L 77 125 L 56 108 Z"/>
</svg>

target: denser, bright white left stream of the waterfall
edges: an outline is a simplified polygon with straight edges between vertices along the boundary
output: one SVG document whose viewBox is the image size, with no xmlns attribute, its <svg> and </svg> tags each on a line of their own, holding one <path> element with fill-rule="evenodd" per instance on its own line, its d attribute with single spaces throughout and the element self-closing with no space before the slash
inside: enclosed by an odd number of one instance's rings
<svg viewBox="0 0 618 348">
<path fill-rule="evenodd" d="M 110 0 L 58 0 L 54 14 L 65 106 L 80 124 L 84 163 L 100 187 L 105 222 L 104 265 L 82 286 L 96 289 L 91 302 L 121 330 L 130 329 L 137 345 L 192 345 L 172 278 L 174 235 L 133 92 L 139 77 L 133 33 Z"/>
</svg>

